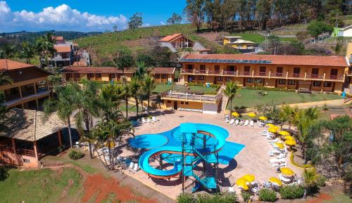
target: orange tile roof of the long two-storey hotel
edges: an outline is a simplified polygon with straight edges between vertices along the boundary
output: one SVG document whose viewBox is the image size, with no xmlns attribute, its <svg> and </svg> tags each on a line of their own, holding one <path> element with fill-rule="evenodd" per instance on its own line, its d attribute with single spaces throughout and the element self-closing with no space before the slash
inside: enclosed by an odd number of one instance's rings
<svg viewBox="0 0 352 203">
<path fill-rule="evenodd" d="M 349 66 L 346 57 L 327 55 L 188 54 L 181 59 L 181 62 L 183 59 L 270 60 L 270 64 L 274 65 Z"/>
</svg>

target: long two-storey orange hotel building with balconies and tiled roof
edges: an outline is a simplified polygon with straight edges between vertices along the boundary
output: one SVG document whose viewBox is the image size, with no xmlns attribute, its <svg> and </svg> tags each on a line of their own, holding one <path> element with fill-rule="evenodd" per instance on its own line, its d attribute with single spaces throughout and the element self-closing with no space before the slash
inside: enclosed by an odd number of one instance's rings
<svg viewBox="0 0 352 203">
<path fill-rule="evenodd" d="M 182 81 L 341 93 L 349 63 L 343 56 L 188 54 Z"/>
</svg>

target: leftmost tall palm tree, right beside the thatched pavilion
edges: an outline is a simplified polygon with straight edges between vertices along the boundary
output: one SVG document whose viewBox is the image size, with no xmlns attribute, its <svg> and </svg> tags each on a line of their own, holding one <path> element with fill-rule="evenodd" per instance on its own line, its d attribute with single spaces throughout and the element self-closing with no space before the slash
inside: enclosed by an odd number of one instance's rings
<svg viewBox="0 0 352 203">
<path fill-rule="evenodd" d="M 56 112 L 58 118 L 68 124 L 68 136 L 71 148 L 73 148 L 73 140 L 70 117 L 77 108 L 76 93 L 78 89 L 79 86 L 76 84 L 58 86 L 55 88 L 57 98 L 49 98 L 44 101 L 44 120 L 47 120 L 51 114 Z"/>
</svg>

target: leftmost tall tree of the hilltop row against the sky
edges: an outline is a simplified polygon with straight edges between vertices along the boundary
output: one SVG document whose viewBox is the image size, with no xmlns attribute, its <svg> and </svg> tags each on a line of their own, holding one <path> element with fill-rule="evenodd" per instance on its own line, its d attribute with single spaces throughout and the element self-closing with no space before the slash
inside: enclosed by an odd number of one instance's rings
<svg viewBox="0 0 352 203">
<path fill-rule="evenodd" d="M 205 18 L 206 0 L 187 0 L 184 12 L 187 18 L 193 25 L 195 25 L 197 33 L 201 30 L 201 24 Z"/>
</svg>

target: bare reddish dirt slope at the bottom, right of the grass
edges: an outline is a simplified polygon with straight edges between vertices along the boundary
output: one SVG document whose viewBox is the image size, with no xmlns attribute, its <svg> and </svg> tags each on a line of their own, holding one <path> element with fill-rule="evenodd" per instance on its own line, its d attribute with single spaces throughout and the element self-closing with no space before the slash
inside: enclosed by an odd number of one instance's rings
<svg viewBox="0 0 352 203">
<path fill-rule="evenodd" d="M 103 175 L 97 173 L 94 175 L 87 175 L 87 179 L 84 181 L 84 195 L 82 202 L 88 202 L 92 197 L 95 198 L 95 202 L 102 202 L 108 198 L 111 193 L 115 194 L 116 199 L 121 202 L 129 200 L 136 200 L 141 203 L 156 203 L 156 199 L 146 199 L 144 197 L 138 197 L 134 195 L 131 188 L 126 186 L 120 186 L 115 178 L 106 178 Z"/>
</svg>

